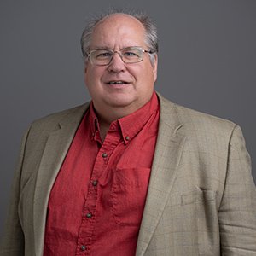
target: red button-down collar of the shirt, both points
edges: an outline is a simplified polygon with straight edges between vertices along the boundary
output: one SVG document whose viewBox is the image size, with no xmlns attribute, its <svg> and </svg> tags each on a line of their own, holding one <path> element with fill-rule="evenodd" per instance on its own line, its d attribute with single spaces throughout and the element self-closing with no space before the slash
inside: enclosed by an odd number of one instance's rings
<svg viewBox="0 0 256 256">
<path fill-rule="evenodd" d="M 109 126 L 109 131 L 119 131 L 125 144 L 129 143 L 129 141 L 131 141 L 131 139 L 143 129 L 143 126 L 147 123 L 150 116 L 158 109 L 158 97 L 154 91 L 149 102 L 147 102 L 142 108 L 137 109 L 134 113 L 113 121 Z M 96 139 L 96 135 L 99 135 L 99 122 L 93 108 L 93 102 L 90 102 L 89 120 L 92 137 Z"/>
</svg>

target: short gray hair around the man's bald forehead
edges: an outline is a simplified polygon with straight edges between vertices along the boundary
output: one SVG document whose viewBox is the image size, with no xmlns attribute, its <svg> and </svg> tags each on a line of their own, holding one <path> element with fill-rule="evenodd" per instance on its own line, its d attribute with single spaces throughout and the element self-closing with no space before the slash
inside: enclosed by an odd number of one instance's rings
<svg viewBox="0 0 256 256">
<path fill-rule="evenodd" d="M 102 15 L 99 15 L 87 23 L 87 25 L 84 28 L 84 31 L 81 36 L 81 49 L 82 54 L 84 56 L 84 61 L 87 61 L 87 54 L 90 51 L 90 42 L 92 33 L 96 27 L 96 25 L 103 19 L 108 18 L 111 15 L 114 14 L 124 14 L 124 15 L 131 15 L 132 17 L 139 20 L 142 25 L 144 26 L 146 35 L 145 35 L 145 43 L 148 46 L 148 49 L 152 51 L 152 54 L 149 54 L 150 61 L 152 65 L 154 65 L 155 56 L 158 53 L 158 37 L 157 37 L 157 29 L 156 26 L 154 26 L 154 23 L 150 19 L 148 15 L 145 13 L 133 13 L 128 11 L 116 11 L 116 10 L 110 10 L 108 13 L 104 13 Z"/>
</svg>

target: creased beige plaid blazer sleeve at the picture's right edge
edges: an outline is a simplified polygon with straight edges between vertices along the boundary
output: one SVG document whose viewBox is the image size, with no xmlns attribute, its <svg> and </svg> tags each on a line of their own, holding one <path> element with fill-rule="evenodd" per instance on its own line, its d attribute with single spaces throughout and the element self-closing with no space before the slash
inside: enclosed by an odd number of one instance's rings
<svg viewBox="0 0 256 256">
<path fill-rule="evenodd" d="M 256 255 L 256 189 L 251 160 L 239 126 L 230 137 L 218 221 L 222 255 Z"/>
</svg>

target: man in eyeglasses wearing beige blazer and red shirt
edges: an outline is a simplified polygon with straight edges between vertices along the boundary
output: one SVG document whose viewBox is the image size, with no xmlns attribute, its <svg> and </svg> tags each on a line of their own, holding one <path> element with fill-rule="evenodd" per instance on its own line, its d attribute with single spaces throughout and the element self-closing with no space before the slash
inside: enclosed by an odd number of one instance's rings
<svg viewBox="0 0 256 256">
<path fill-rule="evenodd" d="M 0 255 L 256 255 L 239 126 L 156 95 L 147 16 L 103 16 L 81 43 L 92 102 L 26 132 Z"/>
</svg>

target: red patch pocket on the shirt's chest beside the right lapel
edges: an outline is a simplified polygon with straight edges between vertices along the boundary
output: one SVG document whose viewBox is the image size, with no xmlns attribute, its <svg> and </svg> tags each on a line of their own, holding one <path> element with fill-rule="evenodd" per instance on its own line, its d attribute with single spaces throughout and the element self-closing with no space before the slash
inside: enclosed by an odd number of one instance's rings
<svg viewBox="0 0 256 256">
<path fill-rule="evenodd" d="M 117 224 L 139 225 L 148 192 L 150 168 L 117 168 L 113 172 L 112 213 Z"/>
</svg>

